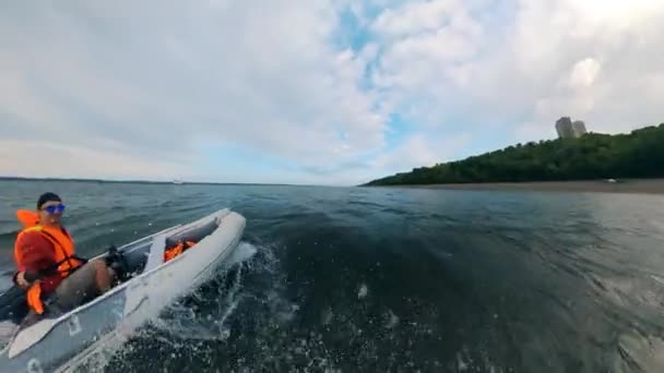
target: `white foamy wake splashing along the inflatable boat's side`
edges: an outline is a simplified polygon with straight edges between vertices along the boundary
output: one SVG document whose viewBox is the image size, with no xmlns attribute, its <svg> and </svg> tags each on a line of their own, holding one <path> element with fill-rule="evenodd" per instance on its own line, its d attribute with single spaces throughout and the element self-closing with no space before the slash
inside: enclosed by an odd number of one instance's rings
<svg viewBox="0 0 664 373">
<path fill-rule="evenodd" d="M 118 329 L 78 361 L 64 369 L 73 372 L 144 372 L 153 371 L 149 361 L 137 354 L 153 351 L 162 363 L 180 352 L 194 352 L 195 341 L 221 341 L 227 338 L 226 318 L 233 314 L 242 274 L 251 267 L 259 249 L 240 242 L 238 249 L 218 268 L 214 278 L 190 296 L 168 306 L 159 317 L 137 330 Z M 221 317 L 218 317 L 221 315 Z M 153 344 L 163 345 L 154 350 Z M 193 350 L 192 350 L 193 348 Z M 139 363 L 140 361 L 140 363 Z M 146 366 L 141 364 L 147 363 Z"/>
</svg>

